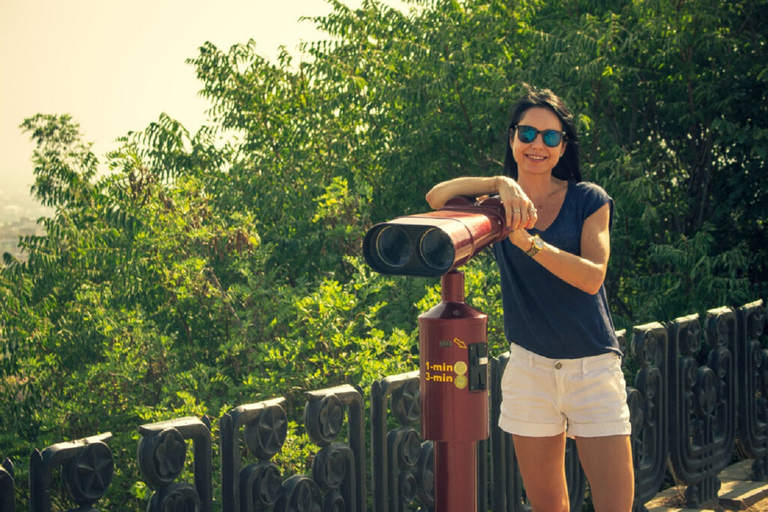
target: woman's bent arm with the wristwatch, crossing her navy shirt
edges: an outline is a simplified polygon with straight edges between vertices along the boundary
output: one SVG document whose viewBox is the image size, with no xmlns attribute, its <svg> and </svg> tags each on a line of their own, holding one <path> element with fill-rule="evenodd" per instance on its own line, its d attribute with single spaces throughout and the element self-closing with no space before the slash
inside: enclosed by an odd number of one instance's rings
<svg viewBox="0 0 768 512">
<path fill-rule="evenodd" d="M 544 244 L 544 249 L 534 258 L 566 283 L 590 295 L 596 294 L 608 269 L 611 252 L 610 216 L 610 205 L 605 204 L 584 221 L 581 256 Z M 523 229 L 513 231 L 509 239 L 523 251 L 529 250 L 533 243 L 533 237 Z"/>
</svg>

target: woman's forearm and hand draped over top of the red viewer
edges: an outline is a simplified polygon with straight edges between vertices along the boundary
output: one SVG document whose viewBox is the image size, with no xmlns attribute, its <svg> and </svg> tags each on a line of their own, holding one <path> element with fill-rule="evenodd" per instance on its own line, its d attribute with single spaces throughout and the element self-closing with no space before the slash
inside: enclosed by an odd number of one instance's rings
<svg viewBox="0 0 768 512">
<path fill-rule="evenodd" d="M 507 228 L 532 228 L 538 220 L 533 202 L 515 180 L 507 176 L 463 177 L 438 183 L 427 192 L 427 202 L 435 210 L 456 196 L 481 197 L 498 194 L 504 205 Z"/>
</svg>

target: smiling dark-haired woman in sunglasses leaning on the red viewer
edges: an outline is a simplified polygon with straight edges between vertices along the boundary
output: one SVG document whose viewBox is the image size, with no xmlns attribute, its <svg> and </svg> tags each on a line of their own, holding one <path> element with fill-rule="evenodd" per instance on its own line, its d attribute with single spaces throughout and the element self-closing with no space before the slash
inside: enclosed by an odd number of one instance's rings
<svg viewBox="0 0 768 512">
<path fill-rule="evenodd" d="M 613 201 L 582 182 L 573 116 L 549 90 L 514 106 L 505 176 L 457 178 L 427 194 L 498 194 L 510 235 L 492 246 L 511 357 L 499 426 L 513 435 L 534 511 L 568 511 L 566 436 L 598 512 L 629 511 L 634 475 L 626 385 L 603 281 Z"/>
</svg>

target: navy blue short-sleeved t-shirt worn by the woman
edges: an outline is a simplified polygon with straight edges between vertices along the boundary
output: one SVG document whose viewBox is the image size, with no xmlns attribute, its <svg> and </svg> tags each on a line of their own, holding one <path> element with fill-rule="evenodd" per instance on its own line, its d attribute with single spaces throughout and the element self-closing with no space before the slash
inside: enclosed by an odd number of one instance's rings
<svg viewBox="0 0 768 512">
<path fill-rule="evenodd" d="M 581 255 L 584 221 L 613 200 L 598 185 L 569 182 L 563 206 L 544 231 L 531 229 L 547 243 Z M 618 339 L 605 287 L 590 295 L 566 283 L 509 239 L 492 246 L 499 265 L 507 341 L 552 359 L 576 359 L 616 352 Z"/>
</svg>

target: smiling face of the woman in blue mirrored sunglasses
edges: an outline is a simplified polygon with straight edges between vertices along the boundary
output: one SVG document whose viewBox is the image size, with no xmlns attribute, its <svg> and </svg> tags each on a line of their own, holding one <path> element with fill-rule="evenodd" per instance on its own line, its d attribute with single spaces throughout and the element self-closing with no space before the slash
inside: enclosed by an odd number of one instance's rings
<svg viewBox="0 0 768 512">
<path fill-rule="evenodd" d="M 563 124 L 560 118 L 548 108 L 533 107 L 529 108 L 523 114 L 523 117 L 517 122 L 516 129 L 511 136 L 512 155 L 517 162 L 518 177 L 523 175 L 541 175 L 551 174 L 560 157 L 565 152 L 565 139 L 556 147 L 550 147 L 544 144 L 544 136 L 537 133 L 532 142 L 521 142 L 517 131 L 520 126 L 532 126 L 536 130 L 555 130 L 562 132 Z"/>
</svg>

